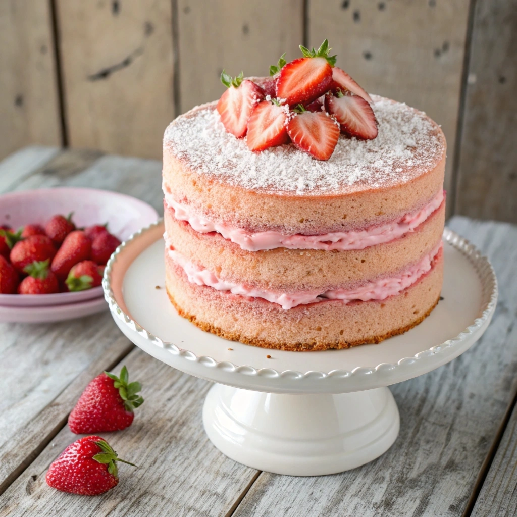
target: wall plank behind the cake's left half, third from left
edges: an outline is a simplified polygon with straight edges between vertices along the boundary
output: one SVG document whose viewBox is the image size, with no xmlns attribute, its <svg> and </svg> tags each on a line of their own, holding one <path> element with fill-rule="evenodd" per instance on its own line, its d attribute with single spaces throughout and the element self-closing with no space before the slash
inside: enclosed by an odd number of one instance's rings
<svg viewBox="0 0 517 517">
<path fill-rule="evenodd" d="M 300 53 L 303 1 L 177 0 L 181 112 L 218 99 L 222 69 L 269 75 L 283 52 Z"/>
</svg>

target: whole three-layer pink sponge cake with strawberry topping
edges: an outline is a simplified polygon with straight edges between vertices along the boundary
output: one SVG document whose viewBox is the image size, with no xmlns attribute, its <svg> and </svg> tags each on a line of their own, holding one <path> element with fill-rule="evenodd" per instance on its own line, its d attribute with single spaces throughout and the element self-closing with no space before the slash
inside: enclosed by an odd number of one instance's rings
<svg viewBox="0 0 517 517">
<path fill-rule="evenodd" d="M 439 299 L 445 138 L 424 113 L 370 97 L 326 49 L 305 50 L 272 86 L 229 78 L 230 101 L 166 129 L 166 287 L 179 314 L 227 339 L 378 343 Z"/>
</svg>

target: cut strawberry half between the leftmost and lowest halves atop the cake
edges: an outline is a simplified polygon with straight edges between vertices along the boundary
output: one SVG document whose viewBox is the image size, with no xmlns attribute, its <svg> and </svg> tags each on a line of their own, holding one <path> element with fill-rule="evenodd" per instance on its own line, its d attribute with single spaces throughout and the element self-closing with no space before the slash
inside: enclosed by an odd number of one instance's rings
<svg viewBox="0 0 517 517">
<path fill-rule="evenodd" d="M 285 122 L 287 112 L 278 101 L 263 100 L 251 112 L 248 122 L 248 147 L 252 151 L 262 151 L 274 145 L 289 141 Z"/>
</svg>

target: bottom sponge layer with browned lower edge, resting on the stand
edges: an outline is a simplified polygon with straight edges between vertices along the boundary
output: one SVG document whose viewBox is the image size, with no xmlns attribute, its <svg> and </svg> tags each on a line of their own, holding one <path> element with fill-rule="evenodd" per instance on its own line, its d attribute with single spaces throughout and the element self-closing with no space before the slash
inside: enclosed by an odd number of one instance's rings
<svg viewBox="0 0 517 517">
<path fill-rule="evenodd" d="M 443 253 L 431 270 L 382 301 L 324 300 L 284 310 L 276 303 L 190 283 L 178 265 L 166 269 L 166 288 L 181 316 L 226 339 L 265 348 L 324 350 L 378 343 L 420 323 L 438 302 Z"/>
</svg>

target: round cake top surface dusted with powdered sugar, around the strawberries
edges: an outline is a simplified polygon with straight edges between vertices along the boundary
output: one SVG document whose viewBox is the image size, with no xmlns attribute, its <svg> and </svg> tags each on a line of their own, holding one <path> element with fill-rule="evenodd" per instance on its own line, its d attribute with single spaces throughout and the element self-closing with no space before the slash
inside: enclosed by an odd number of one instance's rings
<svg viewBox="0 0 517 517">
<path fill-rule="evenodd" d="M 327 161 L 315 160 L 293 144 L 253 153 L 245 139 L 225 130 L 215 102 L 177 117 L 165 130 L 164 151 L 197 174 L 249 190 L 291 195 L 388 188 L 434 169 L 446 149 L 439 126 L 406 104 L 376 95 L 372 99 L 377 138 L 341 135 Z"/>
</svg>

